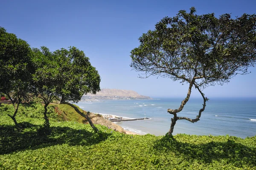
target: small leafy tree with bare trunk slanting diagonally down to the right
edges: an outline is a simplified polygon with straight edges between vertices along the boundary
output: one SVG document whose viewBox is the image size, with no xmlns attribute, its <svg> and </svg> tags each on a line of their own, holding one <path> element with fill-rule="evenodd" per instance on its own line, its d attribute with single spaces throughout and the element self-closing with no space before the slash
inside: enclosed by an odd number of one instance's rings
<svg viewBox="0 0 256 170">
<path fill-rule="evenodd" d="M 69 103 L 77 103 L 84 94 L 99 92 L 100 76 L 95 67 L 91 66 L 89 58 L 76 47 L 70 47 L 69 50 L 61 49 L 54 52 L 56 58 L 61 62 L 61 80 L 58 86 L 58 97 L 61 98 L 61 104 L 67 104 L 73 107 L 79 115 L 87 119 L 95 132 L 99 130 L 93 125 L 89 118 L 89 113 L 85 115 L 76 106 Z"/>
</svg>

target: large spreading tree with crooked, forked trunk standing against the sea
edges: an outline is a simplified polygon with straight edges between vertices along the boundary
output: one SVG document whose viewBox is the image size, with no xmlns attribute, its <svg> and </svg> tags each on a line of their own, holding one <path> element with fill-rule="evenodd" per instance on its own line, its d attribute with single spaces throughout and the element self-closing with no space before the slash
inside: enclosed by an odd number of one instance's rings
<svg viewBox="0 0 256 170">
<path fill-rule="evenodd" d="M 131 67 L 141 78 L 158 75 L 189 84 L 186 98 L 178 109 L 167 109 L 173 115 L 169 135 L 177 120 L 199 121 L 208 98 L 202 92 L 207 86 L 223 85 L 237 74 L 248 74 L 256 64 L 256 15 L 195 14 L 181 10 L 175 17 L 165 17 L 153 31 L 143 34 L 140 46 L 131 51 Z M 196 118 L 178 116 L 189 101 L 191 89 L 198 90 L 203 107 Z"/>
</svg>

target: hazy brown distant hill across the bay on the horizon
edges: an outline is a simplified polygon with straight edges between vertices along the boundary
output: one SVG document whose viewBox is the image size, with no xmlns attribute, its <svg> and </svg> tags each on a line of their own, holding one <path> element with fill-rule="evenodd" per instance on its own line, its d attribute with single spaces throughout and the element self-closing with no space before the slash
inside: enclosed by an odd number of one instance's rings
<svg viewBox="0 0 256 170">
<path fill-rule="evenodd" d="M 150 99 L 148 96 L 139 95 L 133 90 L 120 90 L 120 89 L 101 89 L 96 95 L 87 94 L 86 98 L 104 98 L 104 99 Z"/>
</svg>

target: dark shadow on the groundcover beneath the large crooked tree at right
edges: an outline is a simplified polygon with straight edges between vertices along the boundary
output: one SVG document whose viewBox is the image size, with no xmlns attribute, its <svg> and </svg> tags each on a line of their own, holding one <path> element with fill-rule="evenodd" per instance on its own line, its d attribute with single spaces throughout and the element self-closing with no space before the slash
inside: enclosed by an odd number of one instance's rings
<svg viewBox="0 0 256 170">
<path fill-rule="evenodd" d="M 225 161 L 236 167 L 243 164 L 256 166 L 256 147 L 247 147 L 232 139 L 232 136 L 223 142 L 205 142 L 203 144 L 181 142 L 172 140 L 168 135 L 155 141 L 154 150 L 161 153 L 174 152 L 188 161 Z M 191 142 L 191 141 L 190 141 Z"/>
</svg>

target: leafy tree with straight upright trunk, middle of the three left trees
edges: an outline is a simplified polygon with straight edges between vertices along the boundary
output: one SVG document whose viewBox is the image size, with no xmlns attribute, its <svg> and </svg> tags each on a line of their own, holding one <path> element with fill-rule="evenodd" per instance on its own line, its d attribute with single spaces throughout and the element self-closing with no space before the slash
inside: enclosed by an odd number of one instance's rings
<svg viewBox="0 0 256 170">
<path fill-rule="evenodd" d="M 49 133 L 49 118 L 47 107 L 55 98 L 61 80 L 61 63 L 56 56 L 45 46 L 40 49 L 33 49 L 33 63 L 35 73 L 33 77 L 33 92 L 44 101 L 44 128 Z"/>
</svg>

